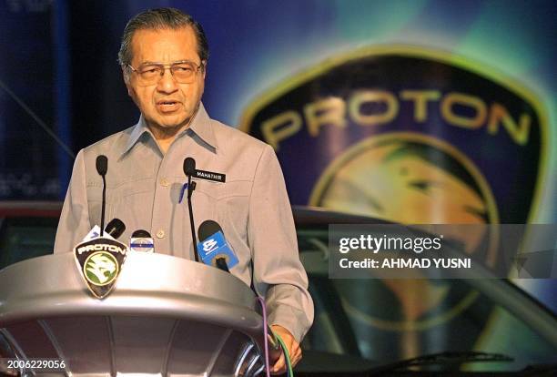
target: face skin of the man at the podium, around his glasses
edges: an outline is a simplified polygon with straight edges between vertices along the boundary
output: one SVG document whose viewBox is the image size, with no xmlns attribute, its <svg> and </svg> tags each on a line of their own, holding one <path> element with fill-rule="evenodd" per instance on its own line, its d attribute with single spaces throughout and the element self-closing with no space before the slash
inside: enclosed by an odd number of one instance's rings
<svg viewBox="0 0 557 377">
<path fill-rule="evenodd" d="M 137 68 L 147 62 L 171 64 L 189 60 L 204 64 L 197 55 L 194 31 L 187 26 L 181 29 L 138 30 L 132 38 L 133 59 L 131 66 Z M 147 120 L 147 125 L 162 132 L 177 130 L 194 116 L 205 86 L 205 69 L 197 71 L 193 81 L 178 84 L 170 69 L 166 69 L 157 84 L 138 85 L 136 72 L 129 72 L 125 81 L 127 93 Z"/>
</svg>

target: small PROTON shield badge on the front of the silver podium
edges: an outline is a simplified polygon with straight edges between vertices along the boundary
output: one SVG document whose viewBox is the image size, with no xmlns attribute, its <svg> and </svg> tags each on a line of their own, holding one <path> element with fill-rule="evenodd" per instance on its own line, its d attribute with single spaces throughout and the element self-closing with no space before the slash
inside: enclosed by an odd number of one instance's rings
<svg viewBox="0 0 557 377">
<path fill-rule="evenodd" d="M 97 299 L 105 298 L 114 288 L 126 255 L 127 246 L 116 239 L 99 237 L 76 246 L 77 268 Z"/>
</svg>

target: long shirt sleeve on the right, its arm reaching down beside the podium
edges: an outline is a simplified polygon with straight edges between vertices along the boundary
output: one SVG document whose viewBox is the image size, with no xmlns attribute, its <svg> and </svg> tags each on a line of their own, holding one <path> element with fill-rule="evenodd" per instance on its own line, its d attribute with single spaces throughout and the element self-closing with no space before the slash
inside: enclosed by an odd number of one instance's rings
<svg viewBox="0 0 557 377">
<path fill-rule="evenodd" d="M 259 158 L 249 199 L 248 241 L 253 283 L 266 297 L 268 323 L 279 324 L 301 341 L 313 322 L 313 301 L 282 170 L 269 146 Z"/>
</svg>

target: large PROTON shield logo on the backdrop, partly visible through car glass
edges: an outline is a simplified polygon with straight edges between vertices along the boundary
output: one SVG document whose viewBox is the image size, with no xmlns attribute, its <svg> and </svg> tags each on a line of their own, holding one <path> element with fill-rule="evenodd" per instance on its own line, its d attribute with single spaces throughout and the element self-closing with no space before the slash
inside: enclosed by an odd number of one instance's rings
<svg viewBox="0 0 557 377">
<path fill-rule="evenodd" d="M 258 96 L 241 127 L 275 148 L 292 204 L 404 224 L 527 223 L 544 180 L 547 121 L 532 92 L 479 62 L 419 47 L 331 57 Z M 501 267 L 499 234 L 450 236 Z M 473 347 L 480 334 L 463 330 L 460 314 L 487 319 L 491 307 L 462 282 L 415 278 L 360 280 L 357 289 L 332 280 L 359 341 L 391 343 L 398 331 L 408 343 L 414 331 L 417 342 L 445 326 L 448 339 Z"/>
</svg>

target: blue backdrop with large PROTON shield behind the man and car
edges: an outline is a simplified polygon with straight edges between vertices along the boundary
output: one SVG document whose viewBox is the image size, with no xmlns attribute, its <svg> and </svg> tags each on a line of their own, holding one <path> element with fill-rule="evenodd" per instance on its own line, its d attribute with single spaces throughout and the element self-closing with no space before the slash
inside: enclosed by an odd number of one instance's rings
<svg viewBox="0 0 557 377">
<path fill-rule="evenodd" d="M 136 123 L 119 36 L 156 6 L 204 26 L 205 106 L 275 148 L 293 204 L 557 221 L 553 1 L 1 1 L 0 200 L 63 199 L 72 155 Z"/>
</svg>

